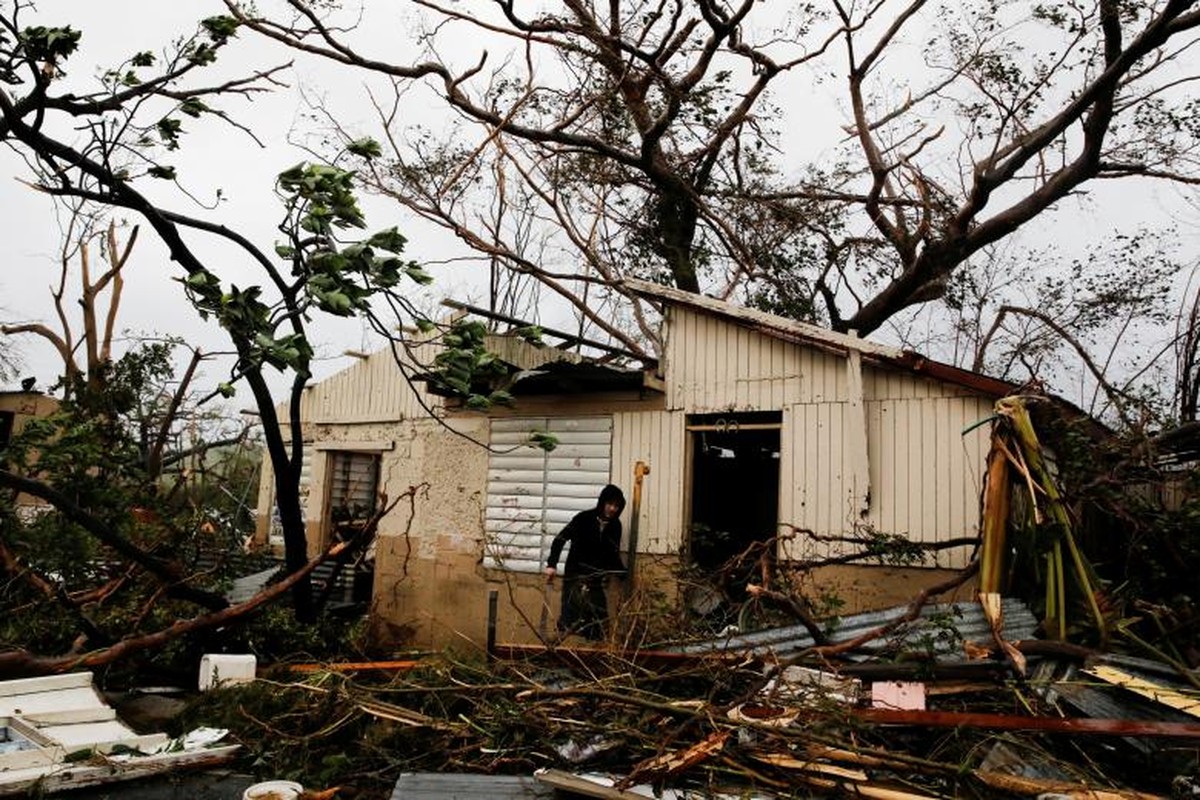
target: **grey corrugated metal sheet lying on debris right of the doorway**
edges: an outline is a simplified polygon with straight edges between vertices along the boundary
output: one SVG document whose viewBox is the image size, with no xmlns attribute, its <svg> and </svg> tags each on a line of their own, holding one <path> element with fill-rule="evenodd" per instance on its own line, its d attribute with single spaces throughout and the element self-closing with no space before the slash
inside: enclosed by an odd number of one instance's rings
<svg viewBox="0 0 1200 800">
<path fill-rule="evenodd" d="M 1007 640 L 1033 638 L 1038 627 L 1030 609 L 1019 600 L 1006 597 L 1003 636 Z M 833 643 L 850 642 L 868 631 L 900 619 L 908 612 L 907 606 L 898 606 L 880 612 L 838 618 L 830 626 Z M 937 603 L 925 606 L 920 616 L 901 625 L 886 637 L 859 648 L 862 654 L 878 654 L 894 650 L 919 650 L 937 656 L 938 661 L 960 661 L 962 642 L 990 642 L 991 626 L 983 615 L 979 603 Z M 722 639 L 700 642 L 677 648 L 679 652 L 751 652 L 756 656 L 775 655 L 786 657 L 814 646 L 812 636 L 803 625 L 776 627 L 731 636 Z"/>
</svg>

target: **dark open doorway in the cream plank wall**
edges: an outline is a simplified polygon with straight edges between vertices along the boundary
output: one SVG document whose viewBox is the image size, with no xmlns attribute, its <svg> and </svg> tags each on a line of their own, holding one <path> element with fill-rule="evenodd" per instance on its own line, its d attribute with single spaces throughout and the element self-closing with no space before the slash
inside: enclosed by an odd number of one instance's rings
<svg viewBox="0 0 1200 800">
<path fill-rule="evenodd" d="M 775 535 L 779 518 L 779 411 L 702 414 L 688 419 L 691 440 L 689 557 L 719 570 Z M 752 572 L 754 561 L 745 565 Z M 739 594 L 750 573 L 726 576 Z M 732 581 L 730 581 L 732 579 Z M 730 585 L 730 583 L 737 585 Z"/>
</svg>

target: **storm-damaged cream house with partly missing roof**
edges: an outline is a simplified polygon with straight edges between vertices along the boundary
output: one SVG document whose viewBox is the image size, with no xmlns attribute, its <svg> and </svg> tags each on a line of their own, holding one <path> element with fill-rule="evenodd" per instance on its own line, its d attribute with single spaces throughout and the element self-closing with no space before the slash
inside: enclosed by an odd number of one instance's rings
<svg viewBox="0 0 1200 800">
<path fill-rule="evenodd" d="M 920 542 L 978 533 L 989 428 L 976 423 L 1014 386 L 698 295 L 629 287 L 661 308 L 661 362 L 496 338 L 517 402 L 487 413 L 406 381 L 391 350 L 306 390 L 313 551 L 347 509 L 414 492 L 379 530 L 378 638 L 482 643 L 488 591 L 499 590 L 498 638 L 534 640 L 550 540 L 607 482 L 632 500 L 635 470 L 641 501 L 623 522 L 625 545 L 636 537 L 638 585 L 673 588 L 680 561 L 703 575 L 793 529 L 780 559 L 835 555 L 847 543 L 830 539 L 869 530 Z M 558 447 L 528 446 L 533 431 Z M 263 471 L 259 518 L 269 519 Z M 931 553 L 923 569 L 827 567 L 814 589 L 839 595 L 844 610 L 893 604 L 970 555 L 961 546 Z M 702 604 L 688 593 L 677 601 Z"/>
</svg>

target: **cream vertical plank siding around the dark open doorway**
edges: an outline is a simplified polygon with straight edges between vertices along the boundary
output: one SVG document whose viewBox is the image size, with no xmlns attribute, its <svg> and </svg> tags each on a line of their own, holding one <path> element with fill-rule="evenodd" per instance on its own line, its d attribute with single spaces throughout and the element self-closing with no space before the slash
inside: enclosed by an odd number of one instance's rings
<svg viewBox="0 0 1200 800">
<path fill-rule="evenodd" d="M 986 426 L 962 437 L 971 423 L 991 414 L 992 398 L 929 378 L 863 366 L 862 409 L 851 404 L 845 356 L 786 342 L 684 307 L 667 309 L 664 357 L 667 408 L 661 420 L 618 423 L 619 458 L 641 457 L 671 475 L 672 491 L 658 492 L 659 476 L 647 479 L 643 524 L 668 530 L 665 551 L 677 548 L 686 522 L 684 509 L 686 414 L 727 410 L 780 410 L 780 523 L 823 535 L 847 535 L 857 527 L 904 534 L 914 541 L 944 541 L 978 533 L 979 491 L 988 452 Z M 644 415 L 631 415 L 644 417 Z M 856 435 L 866 425 L 868 474 L 854 469 Z M 670 420 L 672 433 L 655 433 Z M 638 443 L 638 437 L 646 438 Z M 858 434 L 858 441 L 862 435 Z M 638 453 L 650 452 L 653 458 Z M 620 462 L 618 462 L 620 463 Z M 678 476 L 678 477 L 677 477 Z M 863 477 L 870 505 L 862 515 Z M 667 480 L 664 477 L 664 480 Z M 644 529 L 643 529 L 644 530 Z M 646 541 L 644 539 L 642 541 Z M 799 539 L 788 548 L 797 558 L 832 555 L 845 546 Z M 928 564 L 960 566 L 970 548 L 931 557 Z M 936 561 L 934 560 L 936 558 Z"/>
</svg>

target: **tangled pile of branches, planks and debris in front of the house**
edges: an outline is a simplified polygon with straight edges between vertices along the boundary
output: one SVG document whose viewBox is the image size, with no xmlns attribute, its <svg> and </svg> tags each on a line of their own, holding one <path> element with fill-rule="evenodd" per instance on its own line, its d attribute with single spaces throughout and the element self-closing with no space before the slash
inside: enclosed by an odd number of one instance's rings
<svg viewBox="0 0 1200 800">
<path fill-rule="evenodd" d="M 1030 655 L 1021 675 L 995 642 L 955 627 L 979 628 L 966 606 L 889 628 L 884 656 L 881 639 L 835 657 L 746 642 L 512 649 L 522 657 L 281 670 L 193 712 L 281 777 L 355 775 L 338 796 L 389 796 L 401 775 L 424 774 L 533 777 L 590 796 L 1147 798 L 1196 784 L 1194 673 L 1076 649 Z M 1013 615 L 1003 630 L 1024 630 Z"/>
</svg>

